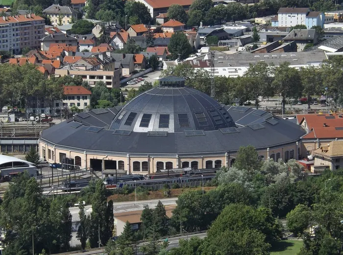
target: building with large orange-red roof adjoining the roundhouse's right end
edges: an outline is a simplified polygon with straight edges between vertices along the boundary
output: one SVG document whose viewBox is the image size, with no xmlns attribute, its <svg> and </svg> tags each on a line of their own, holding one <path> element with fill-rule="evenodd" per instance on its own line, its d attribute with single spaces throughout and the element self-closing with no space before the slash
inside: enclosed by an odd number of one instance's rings
<svg viewBox="0 0 343 255">
<path fill-rule="evenodd" d="M 341 114 L 320 114 L 320 112 L 319 114 L 298 114 L 296 120 L 297 124 L 307 132 L 302 137 L 302 157 L 311 155 L 314 150 L 327 145 L 336 138 L 343 139 L 343 116 Z"/>
</svg>

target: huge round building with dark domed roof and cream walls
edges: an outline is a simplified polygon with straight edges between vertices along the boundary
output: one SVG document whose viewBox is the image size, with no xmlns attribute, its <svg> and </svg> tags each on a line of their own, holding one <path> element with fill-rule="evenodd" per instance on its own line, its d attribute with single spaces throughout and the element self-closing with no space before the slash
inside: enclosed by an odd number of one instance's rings
<svg viewBox="0 0 343 255">
<path fill-rule="evenodd" d="M 41 157 L 126 174 L 230 166 L 240 146 L 261 159 L 299 159 L 301 126 L 260 109 L 221 105 L 166 77 L 124 106 L 94 109 L 44 130 Z"/>
</svg>

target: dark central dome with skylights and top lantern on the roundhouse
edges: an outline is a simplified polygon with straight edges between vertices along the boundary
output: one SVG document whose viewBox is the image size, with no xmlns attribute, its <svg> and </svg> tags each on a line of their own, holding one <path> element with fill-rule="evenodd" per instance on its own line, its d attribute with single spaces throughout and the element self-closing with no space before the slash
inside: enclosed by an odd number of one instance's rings
<svg viewBox="0 0 343 255">
<path fill-rule="evenodd" d="M 228 112 L 210 96 L 184 86 L 184 79 L 166 77 L 160 86 L 128 102 L 111 129 L 134 132 L 218 130 L 236 127 Z"/>
</svg>

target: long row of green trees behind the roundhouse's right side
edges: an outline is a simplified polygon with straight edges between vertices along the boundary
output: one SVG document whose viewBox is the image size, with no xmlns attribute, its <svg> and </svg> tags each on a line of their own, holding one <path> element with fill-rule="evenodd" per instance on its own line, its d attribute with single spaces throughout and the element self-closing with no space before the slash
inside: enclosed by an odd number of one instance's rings
<svg viewBox="0 0 343 255">
<path fill-rule="evenodd" d="M 260 97 L 281 95 L 283 109 L 287 98 L 308 98 L 310 108 L 311 96 L 326 94 L 333 99 L 336 107 L 342 102 L 343 71 L 342 57 L 336 56 L 319 67 L 307 66 L 299 70 L 290 67 L 289 62 L 275 67 L 264 61 L 250 64 L 243 77 L 215 77 L 216 99 L 224 104 L 255 102 L 258 107 Z M 168 67 L 161 77 L 178 76 L 186 79 L 186 84 L 208 95 L 211 93 L 210 73 L 204 69 L 195 71 L 191 64 L 183 63 Z"/>
</svg>

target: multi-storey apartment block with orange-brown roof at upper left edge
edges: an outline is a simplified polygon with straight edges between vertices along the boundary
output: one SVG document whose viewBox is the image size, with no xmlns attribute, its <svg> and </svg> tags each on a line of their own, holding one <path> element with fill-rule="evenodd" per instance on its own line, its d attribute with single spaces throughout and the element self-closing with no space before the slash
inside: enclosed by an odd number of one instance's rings
<svg viewBox="0 0 343 255">
<path fill-rule="evenodd" d="M 44 26 L 44 18 L 34 14 L 0 17 L 0 51 L 19 54 L 25 47 L 38 48 Z"/>
</svg>

